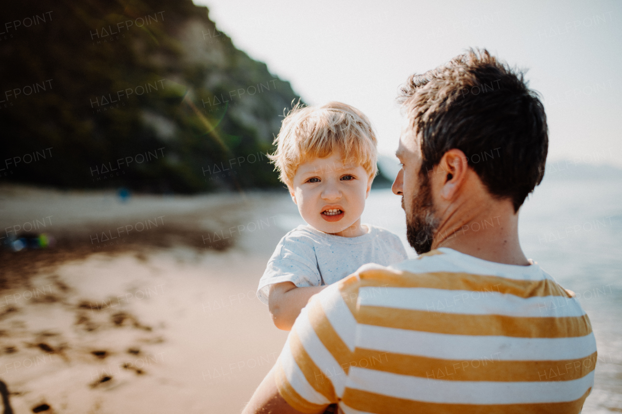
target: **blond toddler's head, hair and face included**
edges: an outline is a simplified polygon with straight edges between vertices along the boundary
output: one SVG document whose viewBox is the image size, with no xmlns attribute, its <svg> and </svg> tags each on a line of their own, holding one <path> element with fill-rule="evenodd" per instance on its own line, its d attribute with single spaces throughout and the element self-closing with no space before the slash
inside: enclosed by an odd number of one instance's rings
<svg viewBox="0 0 622 414">
<path fill-rule="evenodd" d="M 378 172 L 376 136 L 364 114 L 339 102 L 297 105 L 274 143 L 269 157 L 307 223 L 340 236 L 360 226 Z"/>
</svg>

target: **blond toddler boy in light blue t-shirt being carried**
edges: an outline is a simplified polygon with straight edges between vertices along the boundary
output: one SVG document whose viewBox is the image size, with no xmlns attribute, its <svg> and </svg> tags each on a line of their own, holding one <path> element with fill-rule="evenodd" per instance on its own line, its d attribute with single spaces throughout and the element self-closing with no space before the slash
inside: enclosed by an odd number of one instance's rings
<svg viewBox="0 0 622 414">
<path fill-rule="evenodd" d="M 282 122 L 270 155 L 287 185 L 301 225 L 285 234 L 259 281 L 279 329 L 289 330 L 309 298 L 361 265 L 406 260 L 392 232 L 361 224 L 376 167 L 376 136 L 350 105 L 295 106 Z"/>
</svg>

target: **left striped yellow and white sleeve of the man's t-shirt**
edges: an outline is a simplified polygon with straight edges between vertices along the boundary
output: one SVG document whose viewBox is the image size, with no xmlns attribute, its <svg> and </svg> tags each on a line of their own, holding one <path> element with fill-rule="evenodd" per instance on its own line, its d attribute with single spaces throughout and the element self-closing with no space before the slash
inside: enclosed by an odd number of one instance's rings
<svg viewBox="0 0 622 414">
<path fill-rule="evenodd" d="M 343 287 L 356 283 L 351 275 L 315 295 L 300 312 L 276 364 L 279 393 L 304 413 L 321 411 L 343 396 L 353 361 L 356 320 L 350 310 L 356 295 Z"/>
</svg>

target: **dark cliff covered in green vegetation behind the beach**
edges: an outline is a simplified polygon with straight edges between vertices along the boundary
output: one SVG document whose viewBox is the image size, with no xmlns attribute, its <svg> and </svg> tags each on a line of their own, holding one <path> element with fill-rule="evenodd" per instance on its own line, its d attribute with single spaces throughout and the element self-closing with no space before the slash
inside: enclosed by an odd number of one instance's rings
<svg viewBox="0 0 622 414">
<path fill-rule="evenodd" d="M 281 186 L 264 154 L 299 97 L 236 49 L 206 7 L 29 0 L 2 9 L 0 182 Z"/>
</svg>

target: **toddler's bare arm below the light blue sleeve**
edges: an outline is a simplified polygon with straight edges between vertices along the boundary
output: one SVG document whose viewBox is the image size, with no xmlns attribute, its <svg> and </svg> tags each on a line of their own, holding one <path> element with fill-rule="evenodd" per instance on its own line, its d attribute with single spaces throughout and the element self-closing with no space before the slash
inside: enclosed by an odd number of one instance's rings
<svg viewBox="0 0 622 414">
<path fill-rule="evenodd" d="M 309 298 L 319 293 L 326 286 L 297 287 L 292 282 L 270 285 L 268 308 L 274 325 L 283 331 L 289 331 L 300 315 L 300 310 L 307 306 Z"/>
</svg>

